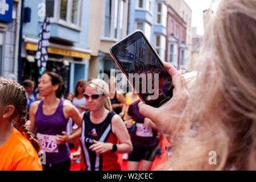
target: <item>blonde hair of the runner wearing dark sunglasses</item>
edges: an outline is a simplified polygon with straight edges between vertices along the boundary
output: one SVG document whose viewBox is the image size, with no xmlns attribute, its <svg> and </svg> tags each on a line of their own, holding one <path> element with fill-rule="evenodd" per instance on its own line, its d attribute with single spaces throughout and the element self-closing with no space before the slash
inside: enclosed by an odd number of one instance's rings
<svg viewBox="0 0 256 182">
<path fill-rule="evenodd" d="M 108 109 L 109 111 L 113 111 L 112 109 L 112 104 L 111 104 L 111 101 L 110 101 L 110 98 L 108 96 L 109 94 L 109 86 L 108 84 L 106 84 L 105 81 L 101 80 L 101 79 L 93 79 L 93 80 L 90 80 L 86 85 L 85 85 L 85 88 L 86 86 L 92 86 L 92 88 L 96 88 L 98 90 L 98 93 L 104 93 L 104 94 L 107 94 L 107 99 L 105 101 L 105 108 Z"/>
</svg>

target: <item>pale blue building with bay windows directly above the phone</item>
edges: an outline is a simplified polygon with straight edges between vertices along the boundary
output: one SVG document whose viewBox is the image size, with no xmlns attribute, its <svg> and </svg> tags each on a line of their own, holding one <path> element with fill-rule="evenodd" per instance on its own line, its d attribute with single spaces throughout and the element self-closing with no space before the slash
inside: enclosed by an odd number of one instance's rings
<svg viewBox="0 0 256 182">
<path fill-rule="evenodd" d="M 166 59 L 167 5 L 164 0 L 130 1 L 128 33 L 142 30 L 158 52 Z"/>
</svg>

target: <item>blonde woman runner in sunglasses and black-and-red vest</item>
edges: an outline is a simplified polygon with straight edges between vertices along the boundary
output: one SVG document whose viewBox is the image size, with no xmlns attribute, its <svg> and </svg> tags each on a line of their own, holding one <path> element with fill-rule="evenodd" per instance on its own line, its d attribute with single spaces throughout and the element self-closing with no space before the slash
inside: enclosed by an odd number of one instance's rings
<svg viewBox="0 0 256 182">
<path fill-rule="evenodd" d="M 84 96 L 89 111 L 82 121 L 81 146 L 71 156 L 74 161 L 81 155 L 82 170 L 118 171 L 116 153 L 133 150 L 125 124 L 112 111 L 108 93 L 108 84 L 100 79 L 91 80 L 85 86 Z"/>
</svg>

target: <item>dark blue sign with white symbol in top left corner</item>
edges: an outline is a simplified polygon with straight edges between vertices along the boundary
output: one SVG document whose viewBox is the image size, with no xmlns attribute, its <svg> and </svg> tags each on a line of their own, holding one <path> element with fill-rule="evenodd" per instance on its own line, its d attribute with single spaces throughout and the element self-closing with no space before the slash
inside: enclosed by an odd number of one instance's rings
<svg viewBox="0 0 256 182">
<path fill-rule="evenodd" d="M 0 0 L 0 21 L 13 20 L 13 0 Z"/>
</svg>

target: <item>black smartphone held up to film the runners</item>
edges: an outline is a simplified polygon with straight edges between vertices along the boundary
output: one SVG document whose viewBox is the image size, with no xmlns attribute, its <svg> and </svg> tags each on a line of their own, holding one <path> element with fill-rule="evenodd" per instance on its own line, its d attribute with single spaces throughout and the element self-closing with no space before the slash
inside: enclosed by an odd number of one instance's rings
<svg viewBox="0 0 256 182">
<path fill-rule="evenodd" d="M 110 55 L 145 104 L 160 107 L 172 98 L 171 75 L 143 31 L 113 44 Z"/>
</svg>

